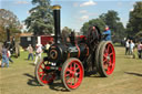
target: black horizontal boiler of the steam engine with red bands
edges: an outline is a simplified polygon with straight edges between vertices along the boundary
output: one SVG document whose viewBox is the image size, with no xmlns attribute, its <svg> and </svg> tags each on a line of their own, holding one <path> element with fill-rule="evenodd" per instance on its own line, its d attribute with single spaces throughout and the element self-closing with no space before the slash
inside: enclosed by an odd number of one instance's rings
<svg viewBox="0 0 142 94">
<path fill-rule="evenodd" d="M 78 58 L 83 60 L 89 55 L 89 48 L 84 43 L 68 46 L 62 44 L 53 44 L 50 46 L 48 55 L 50 62 L 61 62 L 69 58 Z"/>
</svg>

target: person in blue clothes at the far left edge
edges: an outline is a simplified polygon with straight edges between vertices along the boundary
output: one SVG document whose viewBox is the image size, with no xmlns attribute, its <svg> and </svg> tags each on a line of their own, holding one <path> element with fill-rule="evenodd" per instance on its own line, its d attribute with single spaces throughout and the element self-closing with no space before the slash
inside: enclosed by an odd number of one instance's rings
<svg viewBox="0 0 142 94">
<path fill-rule="evenodd" d="M 9 67 L 9 59 L 7 56 L 8 50 L 4 45 L 2 45 L 2 62 L 1 62 L 1 67 L 4 66 L 4 63 L 7 64 L 7 67 Z"/>
</svg>

